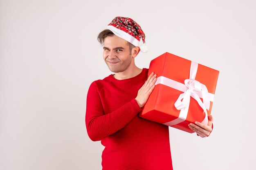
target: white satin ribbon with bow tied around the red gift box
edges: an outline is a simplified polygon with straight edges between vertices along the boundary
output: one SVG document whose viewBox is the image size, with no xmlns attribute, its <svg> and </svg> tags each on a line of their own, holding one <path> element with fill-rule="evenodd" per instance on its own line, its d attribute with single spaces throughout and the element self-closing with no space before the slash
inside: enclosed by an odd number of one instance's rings
<svg viewBox="0 0 256 170">
<path fill-rule="evenodd" d="M 189 111 L 190 97 L 194 98 L 205 112 L 205 118 L 202 121 L 202 123 L 203 124 L 208 123 L 207 109 L 209 110 L 210 108 L 210 101 L 213 102 L 214 94 L 209 93 L 207 90 L 207 87 L 204 84 L 195 80 L 195 75 L 197 73 L 197 70 L 198 70 L 198 63 L 191 61 L 189 79 L 186 79 L 184 81 L 184 84 L 174 81 L 170 78 L 166 78 L 164 76 L 159 76 L 157 78 L 155 85 L 163 84 L 168 87 L 172 87 L 174 89 L 184 92 L 180 94 L 179 98 L 174 104 L 176 109 L 180 110 L 179 117 L 175 120 L 164 123 L 165 125 L 173 126 L 175 124 L 178 124 L 186 120 L 186 117 Z M 200 98 L 203 99 L 203 102 Z"/>
</svg>

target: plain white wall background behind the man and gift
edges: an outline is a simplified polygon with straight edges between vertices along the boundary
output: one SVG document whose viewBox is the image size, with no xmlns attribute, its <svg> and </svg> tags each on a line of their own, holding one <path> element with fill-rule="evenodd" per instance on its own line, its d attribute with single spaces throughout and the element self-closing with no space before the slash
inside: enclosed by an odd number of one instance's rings
<svg viewBox="0 0 256 170">
<path fill-rule="evenodd" d="M 220 71 L 210 137 L 170 128 L 175 170 L 254 169 L 256 1 L 0 0 L 0 169 L 99 170 L 85 129 L 90 83 L 111 72 L 97 35 L 116 16 L 164 52 Z"/>
</svg>

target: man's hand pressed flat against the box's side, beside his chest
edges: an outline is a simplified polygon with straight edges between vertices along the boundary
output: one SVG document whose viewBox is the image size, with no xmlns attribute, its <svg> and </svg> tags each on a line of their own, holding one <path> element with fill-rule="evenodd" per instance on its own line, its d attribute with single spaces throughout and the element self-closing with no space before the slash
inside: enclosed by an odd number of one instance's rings
<svg viewBox="0 0 256 170">
<path fill-rule="evenodd" d="M 154 75 L 154 72 L 152 72 L 148 77 L 148 80 L 139 89 L 137 97 L 135 98 L 139 107 L 143 107 L 146 104 L 149 95 L 153 92 L 153 89 L 155 88 L 155 82 L 157 81 L 156 76 L 157 75 Z"/>
</svg>

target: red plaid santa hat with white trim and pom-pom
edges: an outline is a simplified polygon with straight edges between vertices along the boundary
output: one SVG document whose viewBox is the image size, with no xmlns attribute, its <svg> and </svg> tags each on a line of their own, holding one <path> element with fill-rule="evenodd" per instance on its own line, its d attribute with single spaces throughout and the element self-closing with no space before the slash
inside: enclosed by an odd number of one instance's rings
<svg viewBox="0 0 256 170">
<path fill-rule="evenodd" d="M 141 52 L 148 52 L 145 44 L 145 34 L 137 22 L 128 17 L 115 17 L 107 27 L 116 36 L 125 39 L 134 46 L 139 46 Z M 142 42 L 141 42 L 142 41 Z"/>
</svg>

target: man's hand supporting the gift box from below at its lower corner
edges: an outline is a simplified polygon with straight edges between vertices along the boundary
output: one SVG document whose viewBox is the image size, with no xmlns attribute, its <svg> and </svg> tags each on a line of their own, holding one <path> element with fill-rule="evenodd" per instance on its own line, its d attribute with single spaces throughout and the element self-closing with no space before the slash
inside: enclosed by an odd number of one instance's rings
<svg viewBox="0 0 256 170">
<path fill-rule="evenodd" d="M 213 122 L 213 116 L 210 115 L 207 125 L 202 124 L 200 122 L 195 122 L 195 124 L 190 123 L 189 128 L 191 130 L 195 131 L 195 133 L 197 133 L 198 136 L 207 137 L 210 135 L 210 133 L 212 131 L 212 122 Z"/>
</svg>

